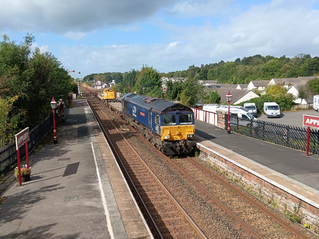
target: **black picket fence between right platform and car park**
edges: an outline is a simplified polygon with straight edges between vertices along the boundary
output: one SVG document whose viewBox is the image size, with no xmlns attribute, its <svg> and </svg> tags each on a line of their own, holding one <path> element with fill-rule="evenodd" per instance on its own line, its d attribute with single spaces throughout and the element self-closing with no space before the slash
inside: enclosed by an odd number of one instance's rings
<svg viewBox="0 0 319 239">
<path fill-rule="evenodd" d="M 228 115 L 225 115 L 227 125 Z M 230 116 L 231 131 L 248 137 L 307 151 L 307 129 Z M 226 127 L 227 128 L 227 127 Z M 319 154 L 319 131 L 310 129 L 309 153 Z"/>
</svg>

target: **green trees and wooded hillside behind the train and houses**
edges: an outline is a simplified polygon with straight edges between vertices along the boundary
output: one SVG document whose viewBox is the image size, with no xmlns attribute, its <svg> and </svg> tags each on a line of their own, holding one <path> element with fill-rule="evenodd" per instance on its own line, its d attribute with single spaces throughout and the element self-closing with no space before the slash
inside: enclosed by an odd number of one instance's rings
<svg viewBox="0 0 319 239">
<path fill-rule="evenodd" d="M 117 92 L 136 91 L 142 94 L 142 87 L 145 87 L 145 95 L 163 98 L 161 88 L 161 77 L 182 78 L 181 80 L 168 80 L 166 83 L 166 99 L 170 101 L 180 101 L 185 105 L 192 106 L 196 103 L 225 103 L 221 102 L 221 97 L 217 91 L 204 91 L 203 84 L 198 81 L 216 80 L 218 84 L 249 84 L 251 80 L 270 80 L 272 78 L 295 78 L 300 76 L 318 76 L 319 57 L 311 58 L 309 54 L 298 54 L 293 58 L 286 56 L 249 56 L 242 59 L 237 58 L 234 62 L 224 62 L 202 64 L 201 67 L 194 65 L 184 71 L 173 71 L 159 73 L 156 69 L 144 66 L 140 71 L 131 69 L 129 72 L 106 72 L 93 73 L 84 77 L 84 81 L 101 80 L 105 83 L 115 81 L 112 88 Z M 314 84 L 316 85 L 316 83 Z M 314 86 L 312 86 L 314 88 Z M 310 89 L 310 88 L 309 88 Z M 285 89 L 283 89 L 285 90 Z M 256 90 L 255 90 L 256 91 Z M 255 92 L 260 94 L 258 92 Z M 315 92 L 313 92 L 315 93 Z M 319 93 L 319 92 L 317 92 Z M 267 100 L 274 99 L 272 96 Z M 270 94 L 271 95 L 271 94 Z M 280 94 L 283 96 L 282 94 Z M 300 98 L 305 92 L 300 92 Z M 269 96 L 269 95 L 268 95 Z M 284 108 L 291 108 L 293 97 L 285 96 Z M 276 98 L 277 99 L 277 98 Z M 279 99 L 277 99 L 279 101 Z"/>
</svg>

